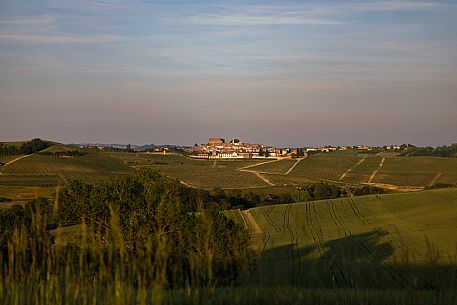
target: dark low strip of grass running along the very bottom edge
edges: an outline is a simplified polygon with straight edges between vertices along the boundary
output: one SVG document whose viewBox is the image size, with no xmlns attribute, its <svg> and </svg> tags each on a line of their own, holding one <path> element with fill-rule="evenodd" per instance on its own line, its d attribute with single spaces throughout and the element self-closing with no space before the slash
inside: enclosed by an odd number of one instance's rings
<svg viewBox="0 0 457 305">
<path fill-rule="evenodd" d="M 357 290 L 306 289 L 296 287 L 216 288 L 200 290 L 152 290 L 119 285 L 46 282 L 5 285 L 0 282 L 3 304 L 314 304 L 314 305 L 453 305 L 455 290 Z"/>
</svg>

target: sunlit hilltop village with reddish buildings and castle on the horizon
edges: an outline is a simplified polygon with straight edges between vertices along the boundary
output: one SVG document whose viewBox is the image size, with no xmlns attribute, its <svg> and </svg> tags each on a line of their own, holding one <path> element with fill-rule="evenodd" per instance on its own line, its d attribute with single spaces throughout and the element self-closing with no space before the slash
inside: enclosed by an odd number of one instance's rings
<svg viewBox="0 0 457 305">
<path fill-rule="evenodd" d="M 183 150 L 195 159 L 251 159 L 251 158 L 293 158 L 303 157 L 305 154 L 317 152 L 331 152 L 336 150 L 400 150 L 401 146 L 324 146 L 304 148 L 276 148 L 265 144 L 251 144 L 241 142 L 239 139 L 226 141 L 223 138 L 209 138 L 207 144 L 195 145 Z"/>
</svg>

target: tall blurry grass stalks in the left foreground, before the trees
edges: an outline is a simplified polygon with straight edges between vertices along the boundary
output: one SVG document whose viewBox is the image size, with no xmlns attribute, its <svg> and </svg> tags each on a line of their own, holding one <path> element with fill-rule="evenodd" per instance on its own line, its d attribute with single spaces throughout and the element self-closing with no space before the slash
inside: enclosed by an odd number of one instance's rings
<svg viewBox="0 0 457 305">
<path fill-rule="evenodd" d="M 164 232 L 132 249 L 111 207 L 109 223 L 83 220 L 80 238 L 64 246 L 54 243 L 59 230 L 47 230 L 51 217 L 33 211 L 30 227 L 14 228 L 1 248 L 0 304 L 162 304 L 174 291 L 191 295 L 218 285 L 208 230 L 202 230 L 204 255 L 183 260 Z M 214 225 L 200 218 L 203 228 Z"/>
</svg>

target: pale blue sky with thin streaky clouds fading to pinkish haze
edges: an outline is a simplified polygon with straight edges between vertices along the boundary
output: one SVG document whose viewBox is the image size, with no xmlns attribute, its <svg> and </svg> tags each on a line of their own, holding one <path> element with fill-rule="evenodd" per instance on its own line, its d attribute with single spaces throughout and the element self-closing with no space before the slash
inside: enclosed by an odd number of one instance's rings
<svg viewBox="0 0 457 305">
<path fill-rule="evenodd" d="M 455 1 L 0 0 L 0 141 L 457 142 Z"/>
</svg>

